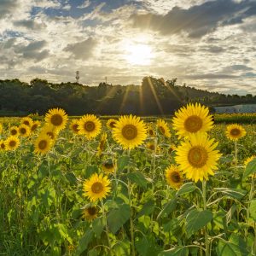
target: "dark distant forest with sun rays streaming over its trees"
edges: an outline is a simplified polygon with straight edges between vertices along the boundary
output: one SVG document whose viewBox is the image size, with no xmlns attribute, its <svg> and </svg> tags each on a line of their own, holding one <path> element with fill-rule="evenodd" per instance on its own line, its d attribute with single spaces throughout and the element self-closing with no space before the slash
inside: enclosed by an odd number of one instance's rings
<svg viewBox="0 0 256 256">
<path fill-rule="evenodd" d="M 177 85 L 177 79 L 143 78 L 142 85 L 100 83 L 88 86 L 78 83 L 53 84 L 33 79 L 30 84 L 19 79 L 0 80 L 0 115 L 44 114 L 49 108 L 63 108 L 69 115 L 172 114 L 188 102 L 209 106 L 256 103 L 256 96 L 224 95 Z M 211 108 L 212 110 L 212 108 Z"/>
</svg>

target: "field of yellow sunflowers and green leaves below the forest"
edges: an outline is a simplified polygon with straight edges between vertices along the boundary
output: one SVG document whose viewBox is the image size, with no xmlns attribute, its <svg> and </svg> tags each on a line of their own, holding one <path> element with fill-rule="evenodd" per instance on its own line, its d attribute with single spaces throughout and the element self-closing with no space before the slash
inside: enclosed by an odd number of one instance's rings
<svg viewBox="0 0 256 256">
<path fill-rule="evenodd" d="M 256 255 L 256 125 L 0 119 L 0 255 Z"/>
</svg>

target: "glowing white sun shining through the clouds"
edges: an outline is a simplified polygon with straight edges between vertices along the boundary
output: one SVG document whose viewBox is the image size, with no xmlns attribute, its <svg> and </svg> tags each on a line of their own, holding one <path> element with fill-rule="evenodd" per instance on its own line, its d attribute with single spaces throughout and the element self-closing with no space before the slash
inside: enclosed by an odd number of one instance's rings
<svg viewBox="0 0 256 256">
<path fill-rule="evenodd" d="M 125 60 L 132 65 L 150 65 L 152 58 L 152 48 L 148 44 L 133 43 L 125 45 Z"/>
</svg>

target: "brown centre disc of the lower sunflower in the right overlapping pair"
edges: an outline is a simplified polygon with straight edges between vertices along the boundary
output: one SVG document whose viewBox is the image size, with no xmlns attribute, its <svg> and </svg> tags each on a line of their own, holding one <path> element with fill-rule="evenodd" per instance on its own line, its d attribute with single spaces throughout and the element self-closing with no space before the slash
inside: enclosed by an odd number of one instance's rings
<svg viewBox="0 0 256 256">
<path fill-rule="evenodd" d="M 202 147 L 190 148 L 188 154 L 188 160 L 191 166 L 195 168 L 201 168 L 207 163 L 208 155 L 207 150 Z"/>
</svg>

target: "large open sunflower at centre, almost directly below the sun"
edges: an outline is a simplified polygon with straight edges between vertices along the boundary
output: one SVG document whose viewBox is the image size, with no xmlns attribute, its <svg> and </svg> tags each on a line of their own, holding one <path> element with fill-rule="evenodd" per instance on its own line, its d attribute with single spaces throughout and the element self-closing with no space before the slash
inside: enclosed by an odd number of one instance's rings
<svg viewBox="0 0 256 256">
<path fill-rule="evenodd" d="M 125 149 L 136 148 L 146 137 L 146 125 L 136 116 L 121 116 L 113 128 L 113 139 Z"/>
</svg>

